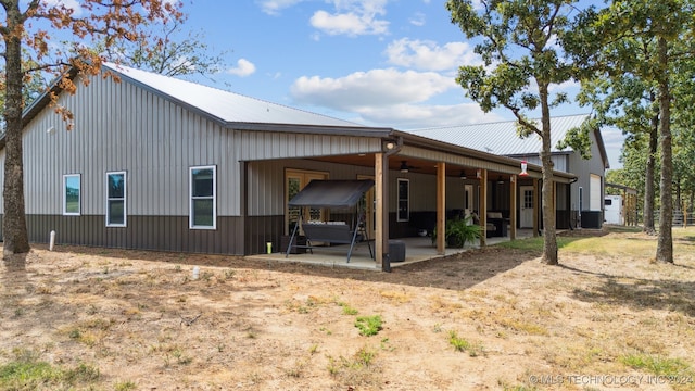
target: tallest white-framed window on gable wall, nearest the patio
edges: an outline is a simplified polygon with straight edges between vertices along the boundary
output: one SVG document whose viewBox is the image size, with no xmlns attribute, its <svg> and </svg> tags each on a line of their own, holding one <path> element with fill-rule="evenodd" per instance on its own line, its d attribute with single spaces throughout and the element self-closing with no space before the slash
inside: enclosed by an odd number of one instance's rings
<svg viewBox="0 0 695 391">
<path fill-rule="evenodd" d="M 217 167 L 190 167 L 191 229 L 217 228 Z"/>
</svg>

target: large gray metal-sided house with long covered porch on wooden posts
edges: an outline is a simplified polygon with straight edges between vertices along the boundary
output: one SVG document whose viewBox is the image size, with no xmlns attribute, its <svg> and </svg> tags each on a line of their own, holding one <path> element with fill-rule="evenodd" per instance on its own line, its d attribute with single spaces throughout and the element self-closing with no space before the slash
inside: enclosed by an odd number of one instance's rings
<svg viewBox="0 0 695 391">
<path fill-rule="evenodd" d="M 55 230 L 58 243 L 264 253 L 268 242 L 279 249 L 298 213 L 345 219 L 334 211 L 288 207 L 312 179 L 375 180 L 366 220 L 380 265 L 388 260 L 389 238 L 415 236 L 422 224 L 443 231 L 455 211 L 505 207 L 508 235 L 516 237 L 518 160 L 134 68 L 103 67 L 119 80 L 97 76 L 88 87 L 76 80 L 75 94 L 52 86 L 58 103 L 74 114 L 73 130 L 50 108 L 48 93 L 25 110 L 33 242 L 47 242 Z M 530 164 L 528 178 L 538 182 L 541 168 Z M 563 172 L 556 178 L 565 188 L 576 179 Z M 489 206 L 485 194 L 493 192 L 498 197 Z M 527 201 L 538 204 L 538 197 Z M 445 252 L 443 236 L 433 251 Z"/>
</svg>

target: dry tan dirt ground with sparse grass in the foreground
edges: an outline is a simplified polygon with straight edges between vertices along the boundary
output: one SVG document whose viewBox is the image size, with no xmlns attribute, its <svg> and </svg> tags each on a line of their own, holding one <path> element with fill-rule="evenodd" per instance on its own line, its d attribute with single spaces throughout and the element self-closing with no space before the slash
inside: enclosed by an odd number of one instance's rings
<svg viewBox="0 0 695 391">
<path fill-rule="evenodd" d="M 100 376 L 77 388 L 97 390 L 695 389 L 693 256 L 560 263 L 491 247 L 386 274 L 37 245 L 0 262 L 0 365 L 87 364 Z"/>
</svg>

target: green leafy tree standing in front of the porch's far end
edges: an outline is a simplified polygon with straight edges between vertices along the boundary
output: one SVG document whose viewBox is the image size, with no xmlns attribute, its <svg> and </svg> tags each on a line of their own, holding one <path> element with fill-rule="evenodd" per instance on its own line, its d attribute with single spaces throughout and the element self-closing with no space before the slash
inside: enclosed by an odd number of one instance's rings
<svg viewBox="0 0 695 391">
<path fill-rule="evenodd" d="M 476 52 L 484 65 L 462 66 L 457 83 L 466 94 L 489 112 L 502 106 L 511 111 L 520 136 L 538 135 L 543 167 L 543 261 L 558 264 L 555 210 L 553 207 L 553 161 L 551 155 L 551 109 L 568 101 L 564 93 L 552 97 L 551 87 L 577 77 L 578 64 L 564 61 L 558 38 L 572 30 L 579 20 L 570 20 L 573 0 L 450 0 L 452 23 L 467 38 L 479 39 Z M 534 110 L 541 124 L 530 121 Z M 589 127 L 584 127 L 586 135 Z M 587 137 L 574 142 L 586 155 Z"/>
</svg>

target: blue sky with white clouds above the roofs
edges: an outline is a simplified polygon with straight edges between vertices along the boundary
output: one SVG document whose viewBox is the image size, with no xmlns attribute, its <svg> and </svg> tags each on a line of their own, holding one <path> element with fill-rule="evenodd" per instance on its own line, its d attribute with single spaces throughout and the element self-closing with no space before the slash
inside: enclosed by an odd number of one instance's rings
<svg viewBox="0 0 695 391">
<path fill-rule="evenodd" d="M 184 31 L 200 31 L 226 71 L 197 81 L 365 125 L 396 129 L 514 119 L 484 114 L 455 83 L 480 63 L 437 0 L 186 0 Z M 573 97 L 577 86 L 559 86 Z M 553 115 L 587 113 L 568 104 Z M 619 131 L 604 131 L 619 166 Z"/>
</svg>

